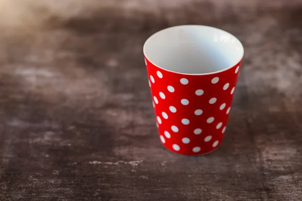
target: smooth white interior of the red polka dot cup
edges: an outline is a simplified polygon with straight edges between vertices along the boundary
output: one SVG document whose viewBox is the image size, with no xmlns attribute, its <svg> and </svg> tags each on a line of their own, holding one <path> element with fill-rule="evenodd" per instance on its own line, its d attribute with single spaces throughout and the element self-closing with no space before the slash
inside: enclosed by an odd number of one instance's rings
<svg viewBox="0 0 302 201">
<path fill-rule="evenodd" d="M 209 74 L 236 65 L 244 49 L 235 36 L 221 29 L 183 25 L 150 36 L 143 52 L 160 68 L 183 74 Z"/>
</svg>

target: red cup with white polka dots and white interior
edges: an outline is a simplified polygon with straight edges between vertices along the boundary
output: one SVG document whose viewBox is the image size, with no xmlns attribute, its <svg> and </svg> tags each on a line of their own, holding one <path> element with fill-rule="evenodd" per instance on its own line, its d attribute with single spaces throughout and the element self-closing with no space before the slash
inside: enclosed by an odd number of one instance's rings
<svg viewBox="0 0 302 201">
<path fill-rule="evenodd" d="M 244 49 L 223 30 L 199 25 L 150 36 L 143 53 L 160 140 L 169 150 L 215 150 L 228 123 Z"/>
</svg>

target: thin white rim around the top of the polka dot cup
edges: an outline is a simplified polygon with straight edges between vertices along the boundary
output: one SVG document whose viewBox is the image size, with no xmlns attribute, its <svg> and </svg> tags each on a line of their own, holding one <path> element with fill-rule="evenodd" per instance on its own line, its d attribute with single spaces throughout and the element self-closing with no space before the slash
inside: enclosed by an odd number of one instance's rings
<svg viewBox="0 0 302 201">
<path fill-rule="evenodd" d="M 161 66 L 156 65 L 155 63 L 153 63 L 152 61 L 150 61 L 150 60 L 148 59 L 147 55 L 145 54 L 146 43 L 147 43 L 149 40 L 152 40 L 153 37 L 155 37 L 156 35 L 160 34 L 161 32 L 164 32 L 164 31 L 166 31 L 166 30 L 168 30 L 168 29 L 173 29 L 173 28 L 176 28 L 176 27 L 205 27 L 205 28 L 207 28 L 207 29 L 216 29 L 216 30 L 219 30 L 219 31 L 221 31 L 221 32 L 228 33 L 228 34 L 230 34 L 231 36 L 233 36 L 233 37 L 239 42 L 239 44 L 240 44 L 240 48 L 242 49 L 242 51 L 241 51 L 242 54 L 241 54 L 241 56 L 239 57 L 240 59 L 239 59 L 238 61 L 236 61 L 234 65 L 231 65 L 231 66 L 229 66 L 229 67 L 226 67 L 226 68 L 224 68 L 224 69 L 222 69 L 222 70 L 217 70 L 217 71 L 208 72 L 208 73 L 197 73 L 197 74 L 196 74 L 196 73 L 181 73 L 181 72 L 176 72 L 176 71 L 172 71 L 172 70 L 167 70 L 167 69 L 165 69 L 165 68 L 162 68 Z M 144 45 L 143 45 L 143 54 L 144 54 L 144 57 L 147 58 L 147 60 L 148 60 L 150 63 L 152 63 L 153 65 L 155 65 L 156 67 L 158 67 L 158 68 L 160 68 L 160 69 L 162 69 L 162 70 L 166 70 L 166 71 L 169 71 L 169 72 L 173 72 L 173 73 L 177 73 L 177 74 L 182 74 L 182 75 L 210 75 L 210 74 L 216 74 L 216 73 L 220 73 L 220 72 L 229 70 L 230 68 L 233 68 L 234 66 L 236 66 L 236 65 L 242 60 L 242 58 L 243 58 L 243 55 L 244 55 L 244 48 L 243 48 L 243 45 L 242 45 L 241 41 L 240 41 L 237 37 L 235 37 L 233 34 L 227 32 L 227 31 L 224 31 L 224 30 L 222 30 L 222 29 L 219 29 L 219 28 L 216 28 L 216 27 L 211 27 L 211 26 L 206 26 L 206 25 L 178 25 L 178 26 L 173 26 L 173 27 L 168 27 L 168 28 L 166 28 L 166 29 L 162 29 L 162 30 L 160 30 L 160 31 L 158 31 L 158 32 L 156 32 L 156 33 L 154 33 L 153 35 L 149 36 L 149 38 L 144 42 Z"/>
</svg>

